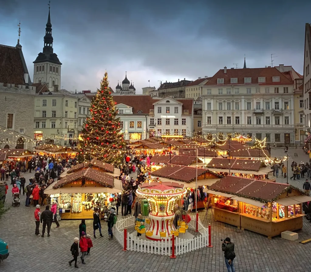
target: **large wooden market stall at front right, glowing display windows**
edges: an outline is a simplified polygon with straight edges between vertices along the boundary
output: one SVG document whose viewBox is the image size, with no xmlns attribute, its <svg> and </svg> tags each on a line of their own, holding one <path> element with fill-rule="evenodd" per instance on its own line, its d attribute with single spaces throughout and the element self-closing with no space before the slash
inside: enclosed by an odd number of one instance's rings
<svg viewBox="0 0 311 272">
<path fill-rule="evenodd" d="M 226 176 L 211 185 L 215 220 L 248 229 L 268 238 L 301 229 L 302 203 L 311 201 L 292 185 Z"/>
</svg>

